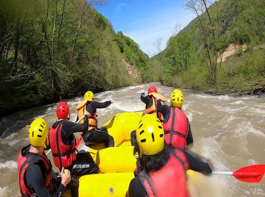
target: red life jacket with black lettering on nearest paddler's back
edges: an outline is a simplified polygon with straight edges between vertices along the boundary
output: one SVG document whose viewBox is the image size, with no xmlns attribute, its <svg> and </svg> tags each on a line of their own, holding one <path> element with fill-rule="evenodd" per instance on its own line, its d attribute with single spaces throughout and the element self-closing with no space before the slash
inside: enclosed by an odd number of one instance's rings
<svg viewBox="0 0 265 197">
<path fill-rule="evenodd" d="M 169 149 L 169 161 L 159 171 L 134 173 L 139 177 L 148 197 L 188 197 L 188 169 L 185 154 L 179 149 Z"/>
</svg>

